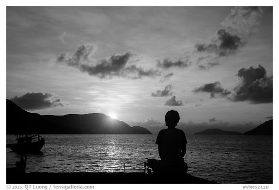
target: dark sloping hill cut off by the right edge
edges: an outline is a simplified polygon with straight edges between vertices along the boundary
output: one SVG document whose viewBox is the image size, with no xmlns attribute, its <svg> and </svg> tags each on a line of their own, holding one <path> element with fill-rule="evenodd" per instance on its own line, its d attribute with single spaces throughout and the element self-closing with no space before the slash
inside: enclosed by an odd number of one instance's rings
<svg viewBox="0 0 279 190">
<path fill-rule="evenodd" d="M 268 120 L 251 131 L 245 132 L 244 135 L 273 135 L 272 120 Z"/>
</svg>

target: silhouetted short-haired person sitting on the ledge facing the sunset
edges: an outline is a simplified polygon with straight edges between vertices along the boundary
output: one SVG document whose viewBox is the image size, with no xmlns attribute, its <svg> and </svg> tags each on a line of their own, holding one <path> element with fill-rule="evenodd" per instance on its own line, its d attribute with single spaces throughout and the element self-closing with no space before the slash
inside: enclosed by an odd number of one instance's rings
<svg viewBox="0 0 279 190">
<path fill-rule="evenodd" d="M 176 129 L 180 120 L 177 111 L 170 110 L 165 116 L 167 129 L 158 133 L 156 144 L 158 145 L 160 161 L 149 159 L 149 166 L 155 173 L 186 173 L 188 166 L 184 161 L 186 154 L 185 133 Z"/>
</svg>

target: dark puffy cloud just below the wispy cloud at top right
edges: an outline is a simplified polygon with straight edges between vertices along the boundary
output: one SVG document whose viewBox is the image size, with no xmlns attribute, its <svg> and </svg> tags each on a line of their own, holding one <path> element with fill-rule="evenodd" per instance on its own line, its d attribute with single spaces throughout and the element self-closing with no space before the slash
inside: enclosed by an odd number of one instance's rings
<svg viewBox="0 0 279 190">
<path fill-rule="evenodd" d="M 212 39 L 210 44 L 196 44 L 195 50 L 215 53 L 218 57 L 222 57 L 235 54 L 244 44 L 239 36 L 233 35 L 225 29 L 219 29 L 216 39 Z"/>
</svg>

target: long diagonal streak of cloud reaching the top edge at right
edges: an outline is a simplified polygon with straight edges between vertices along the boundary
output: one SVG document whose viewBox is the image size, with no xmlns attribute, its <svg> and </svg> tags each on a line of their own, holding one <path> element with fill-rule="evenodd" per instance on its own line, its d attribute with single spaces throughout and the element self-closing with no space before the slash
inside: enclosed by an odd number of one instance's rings
<svg viewBox="0 0 279 190">
<path fill-rule="evenodd" d="M 196 53 L 207 53 L 215 56 L 215 61 L 201 57 L 197 60 L 200 69 L 209 69 L 219 65 L 218 58 L 236 54 L 247 44 L 248 37 L 257 32 L 263 11 L 260 7 L 234 7 L 221 23 L 216 37 L 210 43 L 197 43 Z M 201 60 L 205 63 L 201 64 Z"/>
</svg>

